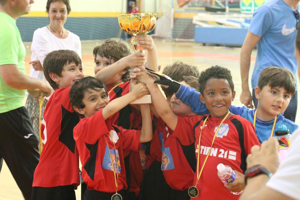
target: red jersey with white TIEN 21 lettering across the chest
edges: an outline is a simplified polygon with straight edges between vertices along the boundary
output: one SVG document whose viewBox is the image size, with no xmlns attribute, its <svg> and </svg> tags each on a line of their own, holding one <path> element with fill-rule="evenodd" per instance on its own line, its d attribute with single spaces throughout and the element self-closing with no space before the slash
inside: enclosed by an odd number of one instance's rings
<svg viewBox="0 0 300 200">
<path fill-rule="evenodd" d="M 207 115 L 182 116 L 178 118 L 176 129 L 172 136 L 179 139 L 184 145 L 195 142 L 196 158 L 199 155 L 199 171 L 205 157 L 211 147 L 214 132 L 222 119 L 209 116 L 206 124 L 202 124 Z M 200 145 L 199 135 L 202 130 Z M 205 163 L 202 175 L 197 184 L 199 194 L 193 199 L 238 199 L 238 195 L 232 194 L 224 187 L 217 176 L 217 165 L 223 163 L 233 170 L 243 173 L 246 169 L 246 156 L 250 154 L 253 145 L 260 145 L 251 122 L 238 116 L 232 115 L 221 125 L 211 152 Z M 200 146 L 200 148 L 198 148 Z M 196 173 L 193 185 L 196 184 Z"/>
</svg>

